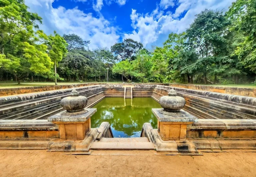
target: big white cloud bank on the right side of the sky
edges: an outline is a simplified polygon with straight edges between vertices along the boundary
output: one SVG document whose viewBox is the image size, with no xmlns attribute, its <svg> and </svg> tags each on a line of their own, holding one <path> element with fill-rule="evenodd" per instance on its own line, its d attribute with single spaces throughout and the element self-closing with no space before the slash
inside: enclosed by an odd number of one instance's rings
<svg viewBox="0 0 256 177">
<path fill-rule="evenodd" d="M 228 7 L 235 0 L 161 0 L 159 6 L 151 13 L 139 14 L 135 9 L 132 9 L 130 15 L 131 26 L 133 31 L 123 35 L 123 39 L 132 38 L 142 42 L 146 47 L 154 45 L 162 45 L 162 42 L 168 38 L 171 32 L 184 32 L 193 22 L 195 15 L 205 9 L 222 10 Z M 168 7 L 178 6 L 173 14 L 163 10 Z M 184 16 L 180 17 L 182 13 Z"/>
</svg>

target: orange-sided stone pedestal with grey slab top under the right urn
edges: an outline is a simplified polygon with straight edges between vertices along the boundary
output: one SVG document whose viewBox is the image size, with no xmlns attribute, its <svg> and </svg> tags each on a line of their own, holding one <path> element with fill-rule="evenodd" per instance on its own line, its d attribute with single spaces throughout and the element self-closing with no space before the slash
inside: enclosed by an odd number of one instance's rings
<svg viewBox="0 0 256 177">
<path fill-rule="evenodd" d="M 186 140 L 187 125 L 197 122 L 197 117 L 183 109 L 178 112 L 169 112 L 164 109 L 152 109 L 158 123 L 157 129 L 163 140 Z"/>
</svg>

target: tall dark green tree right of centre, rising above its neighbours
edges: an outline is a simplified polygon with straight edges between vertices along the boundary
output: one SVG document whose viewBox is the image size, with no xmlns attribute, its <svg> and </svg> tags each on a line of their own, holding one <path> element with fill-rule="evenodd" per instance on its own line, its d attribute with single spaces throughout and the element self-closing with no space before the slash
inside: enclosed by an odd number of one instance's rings
<svg viewBox="0 0 256 177">
<path fill-rule="evenodd" d="M 186 31 L 189 48 L 197 52 L 197 65 L 200 66 L 205 84 L 208 83 L 207 75 L 214 64 L 227 61 L 227 43 L 224 36 L 229 24 L 230 21 L 223 12 L 206 9 L 196 15 L 194 22 Z"/>
</svg>

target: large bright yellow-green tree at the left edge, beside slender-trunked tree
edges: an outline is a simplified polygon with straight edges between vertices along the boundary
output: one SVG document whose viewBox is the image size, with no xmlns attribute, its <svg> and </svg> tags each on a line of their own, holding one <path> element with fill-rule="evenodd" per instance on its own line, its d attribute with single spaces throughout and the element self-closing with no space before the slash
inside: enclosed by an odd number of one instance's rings
<svg viewBox="0 0 256 177">
<path fill-rule="evenodd" d="M 35 32 L 42 18 L 27 11 L 24 0 L 0 1 L 0 63 L 20 80 L 29 73 L 47 75 L 52 68 L 45 45 L 40 44 L 41 32 Z"/>
</svg>

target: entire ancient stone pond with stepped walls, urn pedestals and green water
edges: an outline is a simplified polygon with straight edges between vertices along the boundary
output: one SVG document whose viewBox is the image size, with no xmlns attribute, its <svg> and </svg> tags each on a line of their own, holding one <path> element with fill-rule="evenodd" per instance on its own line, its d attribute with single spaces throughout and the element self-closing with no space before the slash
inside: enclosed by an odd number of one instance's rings
<svg viewBox="0 0 256 177">
<path fill-rule="evenodd" d="M 87 154 L 156 150 L 172 155 L 256 150 L 256 98 L 249 97 L 254 91 L 193 87 L 86 84 L 75 90 L 43 88 L 51 90 L 3 96 L 0 149 Z M 72 101 L 78 95 L 86 97 L 79 106 Z M 66 105 L 64 100 L 70 101 Z"/>
</svg>

